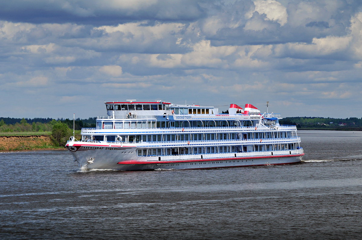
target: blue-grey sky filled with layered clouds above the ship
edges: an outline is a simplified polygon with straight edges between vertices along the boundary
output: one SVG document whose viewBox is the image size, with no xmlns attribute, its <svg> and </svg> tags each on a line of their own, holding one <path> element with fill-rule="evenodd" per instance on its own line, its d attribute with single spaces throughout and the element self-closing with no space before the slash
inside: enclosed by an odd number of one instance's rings
<svg viewBox="0 0 362 240">
<path fill-rule="evenodd" d="M 162 100 L 362 117 L 361 0 L 0 1 L 0 116 Z"/>
</svg>

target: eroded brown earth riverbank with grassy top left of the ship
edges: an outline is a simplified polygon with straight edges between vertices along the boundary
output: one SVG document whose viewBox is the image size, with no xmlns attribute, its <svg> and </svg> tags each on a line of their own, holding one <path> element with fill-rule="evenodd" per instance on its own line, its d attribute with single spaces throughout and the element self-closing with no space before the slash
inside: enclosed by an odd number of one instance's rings
<svg viewBox="0 0 362 240">
<path fill-rule="evenodd" d="M 1 151 L 36 150 L 36 149 L 62 149 L 55 147 L 50 135 L 18 135 L 0 136 Z"/>
</svg>

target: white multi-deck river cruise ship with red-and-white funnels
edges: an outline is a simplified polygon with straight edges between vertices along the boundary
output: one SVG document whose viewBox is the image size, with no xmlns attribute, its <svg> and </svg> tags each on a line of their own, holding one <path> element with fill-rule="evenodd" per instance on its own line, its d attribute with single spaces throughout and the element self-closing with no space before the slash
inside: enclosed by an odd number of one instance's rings
<svg viewBox="0 0 362 240">
<path fill-rule="evenodd" d="M 82 170 L 157 170 L 299 163 L 294 125 L 252 104 L 218 108 L 168 102 L 105 102 L 107 116 L 66 148 Z"/>
</svg>

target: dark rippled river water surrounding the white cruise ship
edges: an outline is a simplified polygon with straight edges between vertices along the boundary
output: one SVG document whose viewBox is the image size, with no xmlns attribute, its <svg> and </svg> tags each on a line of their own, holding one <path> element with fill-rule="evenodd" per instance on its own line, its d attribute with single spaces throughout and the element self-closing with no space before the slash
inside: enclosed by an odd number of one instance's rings
<svg viewBox="0 0 362 240">
<path fill-rule="evenodd" d="M 361 239 L 362 132 L 299 131 L 303 162 L 80 171 L 0 153 L 1 239 Z"/>
</svg>

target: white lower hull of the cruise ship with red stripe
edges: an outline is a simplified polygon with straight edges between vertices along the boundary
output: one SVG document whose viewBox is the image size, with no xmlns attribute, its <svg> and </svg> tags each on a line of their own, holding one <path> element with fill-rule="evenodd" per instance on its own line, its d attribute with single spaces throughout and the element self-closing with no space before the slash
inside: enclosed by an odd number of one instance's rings
<svg viewBox="0 0 362 240">
<path fill-rule="evenodd" d="M 136 148 L 121 145 L 81 145 L 67 148 L 82 170 L 157 170 L 270 166 L 300 163 L 303 149 L 249 153 L 214 153 L 162 157 L 138 157 Z M 72 150 L 73 149 L 73 150 Z"/>
</svg>

